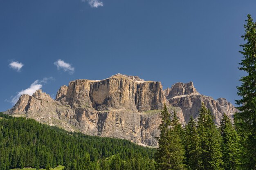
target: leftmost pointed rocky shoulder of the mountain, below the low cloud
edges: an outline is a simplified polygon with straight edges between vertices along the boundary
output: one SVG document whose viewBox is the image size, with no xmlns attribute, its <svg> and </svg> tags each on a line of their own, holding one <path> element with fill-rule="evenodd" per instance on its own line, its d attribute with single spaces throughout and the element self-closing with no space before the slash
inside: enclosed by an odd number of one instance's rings
<svg viewBox="0 0 256 170">
<path fill-rule="evenodd" d="M 35 119 L 43 124 L 58 126 L 65 130 L 75 131 L 68 115 L 73 115 L 74 110 L 70 106 L 60 105 L 42 90 L 37 90 L 32 96 L 22 95 L 18 102 L 4 112 L 13 116 L 24 116 Z"/>
</svg>

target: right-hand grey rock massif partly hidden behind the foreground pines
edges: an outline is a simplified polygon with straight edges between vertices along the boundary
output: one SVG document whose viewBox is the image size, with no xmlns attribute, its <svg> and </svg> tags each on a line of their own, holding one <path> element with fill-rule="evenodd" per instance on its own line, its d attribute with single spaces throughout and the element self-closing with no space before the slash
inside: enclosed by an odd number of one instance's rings
<svg viewBox="0 0 256 170">
<path fill-rule="evenodd" d="M 193 86 L 193 82 L 176 83 L 165 94 L 171 106 L 180 107 L 186 122 L 190 116 L 197 119 L 202 102 L 211 111 L 214 121 L 220 125 L 222 114 L 226 113 L 232 119 L 238 110 L 224 98 L 214 100 L 212 97 L 201 95 Z"/>
</svg>

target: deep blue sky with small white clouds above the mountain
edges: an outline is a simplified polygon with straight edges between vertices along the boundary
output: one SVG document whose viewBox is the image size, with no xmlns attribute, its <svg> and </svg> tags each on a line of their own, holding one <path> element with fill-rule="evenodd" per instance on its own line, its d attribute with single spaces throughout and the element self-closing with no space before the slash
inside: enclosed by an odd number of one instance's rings
<svg viewBox="0 0 256 170">
<path fill-rule="evenodd" d="M 255 0 L 0 0 L 0 111 L 37 88 L 116 73 L 238 99 Z"/>
</svg>

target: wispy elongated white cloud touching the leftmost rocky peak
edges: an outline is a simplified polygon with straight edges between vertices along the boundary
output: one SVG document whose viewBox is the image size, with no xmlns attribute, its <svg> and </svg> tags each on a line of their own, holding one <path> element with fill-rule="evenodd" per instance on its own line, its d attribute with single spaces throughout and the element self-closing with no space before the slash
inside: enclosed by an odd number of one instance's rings
<svg viewBox="0 0 256 170">
<path fill-rule="evenodd" d="M 11 96 L 10 100 L 6 99 L 5 101 L 10 102 L 13 105 L 15 105 L 18 102 L 21 95 L 24 95 L 24 94 L 33 95 L 33 93 L 35 93 L 38 89 L 41 89 L 43 87 L 43 84 L 46 84 L 49 80 L 52 80 L 52 79 L 54 79 L 54 78 L 53 77 L 45 77 L 42 80 L 37 79 L 36 81 L 34 81 L 34 83 L 32 83 L 30 85 L 29 88 L 22 89 L 21 91 L 19 91 L 17 93 L 17 95 Z"/>
</svg>

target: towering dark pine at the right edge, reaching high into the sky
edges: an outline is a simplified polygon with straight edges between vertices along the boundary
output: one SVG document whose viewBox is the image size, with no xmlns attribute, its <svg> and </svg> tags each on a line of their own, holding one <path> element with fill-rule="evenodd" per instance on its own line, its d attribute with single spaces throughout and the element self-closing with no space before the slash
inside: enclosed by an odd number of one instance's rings
<svg viewBox="0 0 256 170">
<path fill-rule="evenodd" d="M 240 79 L 242 84 L 237 87 L 237 94 L 242 99 L 236 100 L 240 112 L 235 113 L 235 124 L 242 137 L 242 168 L 256 170 L 256 23 L 251 15 L 247 15 L 247 18 L 242 36 L 246 43 L 240 45 L 243 51 L 239 51 L 244 56 L 238 68 L 247 75 Z"/>
</svg>

